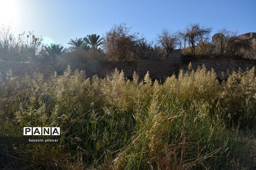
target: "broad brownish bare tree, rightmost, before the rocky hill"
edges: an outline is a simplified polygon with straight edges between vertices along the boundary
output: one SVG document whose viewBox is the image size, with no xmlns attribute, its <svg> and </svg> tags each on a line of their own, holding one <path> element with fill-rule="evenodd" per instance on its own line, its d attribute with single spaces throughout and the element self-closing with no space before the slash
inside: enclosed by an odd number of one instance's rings
<svg viewBox="0 0 256 170">
<path fill-rule="evenodd" d="M 219 30 L 219 33 L 212 37 L 212 43 L 220 55 L 233 55 L 237 54 L 241 49 L 251 49 L 250 40 L 239 37 L 236 32 L 227 31 L 225 28 Z"/>
</svg>

